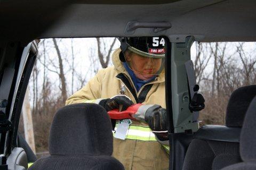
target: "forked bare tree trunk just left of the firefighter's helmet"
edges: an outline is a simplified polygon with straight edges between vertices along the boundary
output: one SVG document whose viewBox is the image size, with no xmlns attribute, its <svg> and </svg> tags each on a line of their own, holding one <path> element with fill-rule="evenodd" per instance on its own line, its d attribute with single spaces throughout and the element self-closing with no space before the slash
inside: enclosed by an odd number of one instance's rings
<svg viewBox="0 0 256 170">
<path fill-rule="evenodd" d="M 97 45 L 98 45 L 98 56 L 99 56 L 100 64 L 101 64 L 102 68 L 106 68 L 109 63 L 111 51 L 116 43 L 116 38 L 114 38 L 112 44 L 110 45 L 110 47 L 107 51 L 106 51 L 106 46 L 107 46 L 106 43 L 104 43 L 104 41 L 101 41 L 99 37 L 96 39 L 97 39 Z M 106 54 L 104 54 L 101 51 L 102 44 L 103 44 L 103 48 L 105 49 Z M 104 58 L 106 58 L 105 59 L 106 61 L 104 61 Z"/>
</svg>

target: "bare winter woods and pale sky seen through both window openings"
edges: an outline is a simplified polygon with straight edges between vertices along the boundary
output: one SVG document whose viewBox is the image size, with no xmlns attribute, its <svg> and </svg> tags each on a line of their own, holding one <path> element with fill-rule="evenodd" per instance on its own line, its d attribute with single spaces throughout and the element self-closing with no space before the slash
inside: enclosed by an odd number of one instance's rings
<svg viewBox="0 0 256 170">
<path fill-rule="evenodd" d="M 99 69 L 112 65 L 111 54 L 118 47 L 116 38 L 41 40 L 26 95 L 38 157 L 47 154 L 55 111 Z M 231 92 L 255 84 L 255 47 L 255 43 L 194 43 L 191 60 L 199 91 L 205 98 L 205 109 L 199 117 L 203 121 L 201 125 L 223 125 Z M 22 118 L 19 132 L 24 136 Z"/>
</svg>

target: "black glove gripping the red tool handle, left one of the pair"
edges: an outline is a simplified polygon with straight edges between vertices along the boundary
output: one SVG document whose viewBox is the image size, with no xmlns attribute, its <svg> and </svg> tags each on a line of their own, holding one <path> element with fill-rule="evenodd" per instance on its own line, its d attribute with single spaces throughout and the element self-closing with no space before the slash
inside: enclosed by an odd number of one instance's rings
<svg viewBox="0 0 256 170">
<path fill-rule="evenodd" d="M 133 105 L 133 102 L 125 95 L 117 95 L 110 99 L 101 100 L 99 105 L 104 107 L 107 112 L 116 108 L 121 108 L 121 111 L 125 111 L 129 106 Z"/>
</svg>

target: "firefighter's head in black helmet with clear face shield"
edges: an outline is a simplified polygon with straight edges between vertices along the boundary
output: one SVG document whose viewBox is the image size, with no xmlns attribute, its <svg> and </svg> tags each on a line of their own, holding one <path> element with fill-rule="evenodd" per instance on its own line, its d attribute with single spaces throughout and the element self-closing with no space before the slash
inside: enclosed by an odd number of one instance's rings
<svg viewBox="0 0 256 170">
<path fill-rule="evenodd" d="M 125 62 L 135 74 L 150 78 L 162 72 L 165 57 L 163 37 L 124 37 L 121 49 Z"/>
</svg>

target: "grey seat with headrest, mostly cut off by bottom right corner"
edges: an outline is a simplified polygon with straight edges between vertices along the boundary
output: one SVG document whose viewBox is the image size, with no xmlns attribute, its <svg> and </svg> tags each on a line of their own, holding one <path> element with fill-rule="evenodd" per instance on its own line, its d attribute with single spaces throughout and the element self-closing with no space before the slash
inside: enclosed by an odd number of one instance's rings
<svg viewBox="0 0 256 170">
<path fill-rule="evenodd" d="M 256 169 L 256 97 L 252 100 L 246 113 L 241 132 L 240 154 L 243 163 L 230 165 L 222 170 Z"/>
</svg>

